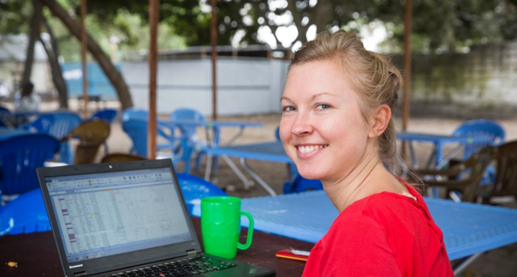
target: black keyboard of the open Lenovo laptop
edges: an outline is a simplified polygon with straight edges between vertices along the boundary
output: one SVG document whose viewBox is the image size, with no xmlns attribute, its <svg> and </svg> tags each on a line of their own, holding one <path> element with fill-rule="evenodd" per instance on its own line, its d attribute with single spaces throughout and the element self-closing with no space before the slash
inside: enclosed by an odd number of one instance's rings
<svg viewBox="0 0 517 277">
<path fill-rule="evenodd" d="M 143 267 L 129 271 L 119 272 L 108 276 L 119 277 L 140 277 L 140 276 L 157 276 L 157 277 L 180 277 L 199 275 L 209 271 L 221 270 L 234 267 L 234 264 L 223 262 L 222 260 L 209 258 L 205 256 L 194 256 L 175 260 L 174 262 L 163 263 L 155 266 Z"/>
</svg>

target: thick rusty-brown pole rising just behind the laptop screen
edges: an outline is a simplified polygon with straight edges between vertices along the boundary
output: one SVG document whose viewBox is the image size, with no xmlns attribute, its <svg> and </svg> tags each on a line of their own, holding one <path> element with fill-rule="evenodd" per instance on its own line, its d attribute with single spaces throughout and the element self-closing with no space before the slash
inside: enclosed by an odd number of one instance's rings
<svg viewBox="0 0 517 277">
<path fill-rule="evenodd" d="M 147 124 L 147 157 L 156 159 L 156 73 L 157 73 L 157 28 L 160 1 L 149 0 L 149 121 Z"/>
</svg>

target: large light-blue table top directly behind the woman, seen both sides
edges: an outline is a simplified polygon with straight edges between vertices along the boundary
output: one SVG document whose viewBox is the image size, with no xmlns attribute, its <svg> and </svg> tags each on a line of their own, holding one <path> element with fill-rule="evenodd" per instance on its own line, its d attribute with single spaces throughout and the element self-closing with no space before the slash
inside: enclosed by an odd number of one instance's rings
<svg viewBox="0 0 517 277">
<path fill-rule="evenodd" d="M 449 258 L 457 259 L 517 242 L 517 210 L 450 200 L 424 198 L 444 234 Z M 255 229 L 317 242 L 338 216 L 324 191 L 242 199 L 242 210 Z M 193 213 L 201 214 L 199 207 Z M 242 225 L 248 221 L 243 217 Z"/>
</svg>

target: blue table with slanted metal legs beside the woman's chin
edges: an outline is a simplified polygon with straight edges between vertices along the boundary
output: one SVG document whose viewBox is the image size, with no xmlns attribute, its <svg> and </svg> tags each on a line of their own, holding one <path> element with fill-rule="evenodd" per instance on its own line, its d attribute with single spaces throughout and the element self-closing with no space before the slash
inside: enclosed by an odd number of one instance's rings
<svg viewBox="0 0 517 277">
<path fill-rule="evenodd" d="M 244 183 L 245 189 L 248 189 L 253 185 L 253 183 L 240 172 L 240 170 L 235 166 L 232 160 L 228 158 L 228 156 L 239 158 L 241 167 L 246 170 L 246 172 L 248 172 L 248 174 L 250 174 L 250 176 L 271 195 L 277 194 L 266 182 L 264 182 L 264 180 L 262 180 L 260 176 L 258 176 L 255 171 L 253 171 L 246 164 L 246 160 L 254 159 L 294 165 L 294 162 L 287 156 L 287 154 L 285 154 L 284 147 L 280 141 L 214 147 L 207 148 L 205 151 L 209 157 L 212 155 L 220 156 L 226 162 L 226 164 L 230 166 L 233 172 L 235 172 L 235 174 L 240 178 L 242 183 Z M 210 165 L 207 163 L 205 180 L 209 181 L 209 176 Z"/>
</svg>

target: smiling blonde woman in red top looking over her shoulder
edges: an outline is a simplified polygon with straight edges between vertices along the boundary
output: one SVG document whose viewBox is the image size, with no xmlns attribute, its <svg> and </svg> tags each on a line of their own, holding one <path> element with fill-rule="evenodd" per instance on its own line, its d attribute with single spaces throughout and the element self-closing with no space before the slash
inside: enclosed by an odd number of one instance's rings
<svg viewBox="0 0 517 277">
<path fill-rule="evenodd" d="M 400 82 L 388 57 L 343 30 L 294 54 L 280 137 L 300 175 L 321 180 L 340 212 L 303 276 L 453 276 L 422 197 L 393 174 Z"/>
</svg>

